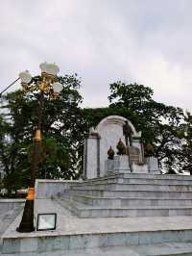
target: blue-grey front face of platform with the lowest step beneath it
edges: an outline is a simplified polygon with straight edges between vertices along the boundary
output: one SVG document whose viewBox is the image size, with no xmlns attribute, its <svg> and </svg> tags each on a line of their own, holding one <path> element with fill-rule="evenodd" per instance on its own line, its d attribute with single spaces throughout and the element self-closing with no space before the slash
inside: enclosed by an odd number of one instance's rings
<svg viewBox="0 0 192 256">
<path fill-rule="evenodd" d="M 152 244 L 158 244 L 158 251 L 156 254 L 152 254 L 152 251 L 147 250 L 146 245 L 150 246 Z M 162 243 L 166 243 L 163 245 Z M 191 243 L 192 243 L 192 230 L 161 230 L 161 231 L 135 231 L 135 232 L 111 232 L 111 233 L 88 233 L 88 234 L 54 234 L 53 232 L 45 233 L 42 235 L 32 234 L 18 237 L 5 237 L 3 238 L 3 246 L 2 246 L 2 256 L 18 253 L 18 255 L 73 255 L 73 253 L 77 253 L 76 255 L 92 255 L 89 249 L 102 249 L 103 254 L 94 254 L 94 256 L 99 255 L 111 255 L 111 256 L 134 256 L 134 255 L 166 255 L 166 252 L 163 248 L 166 248 L 168 243 L 185 243 L 185 249 L 181 245 L 178 244 L 178 250 L 175 245 L 175 253 L 172 254 L 173 250 L 170 250 L 171 246 L 167 247 L 168 255 L 177 255 L 178 253 L 188 253 L 191 251 Z M 190 244 L 186 244 L 190 243 Z M 120 254 L 115 248 L 121 248 L 120 246 L 132 246 L 138 245 L 140 246 L 140 251 L 144 251 L 144 254 L 135 254 L 132 252 L 130 254 L 129 247 L 127 247 L 122 254 Z M 141 247 L 143 245 L 143 248 Z M 145 245 L 145 247 L 144 247 Z M 173 246 L 173 245 L 172 245 Z M 161 247 L 161 249 L 160 249 Z M 174 247 L 174 246 L 173 246 Z M 107 249 L 110 249 L 109 253 Z M 149 247 L 148 247 L 149 248 Z M 84 249 L 87 250 L 84 253 L 78 254 L 77 250 Z M 111 250 L 117 250 L 117 253 L 110 254 Z M 154 248 L 155 249 L 155 248 Z M 161 251 L 161 252 L 160 252 Z M 90 253 L 89 253 L 90 252 Z M 92 251 L 93 252 L 93 251 Z M 95 250 L 94 250 L 95 252 Z M 97 251 L 96 251 L 97 252 Z M 53 253 L 53 254 L 52 254 Z M 179 255 L 179 254 L 178 254 Z"/>
</svg>

